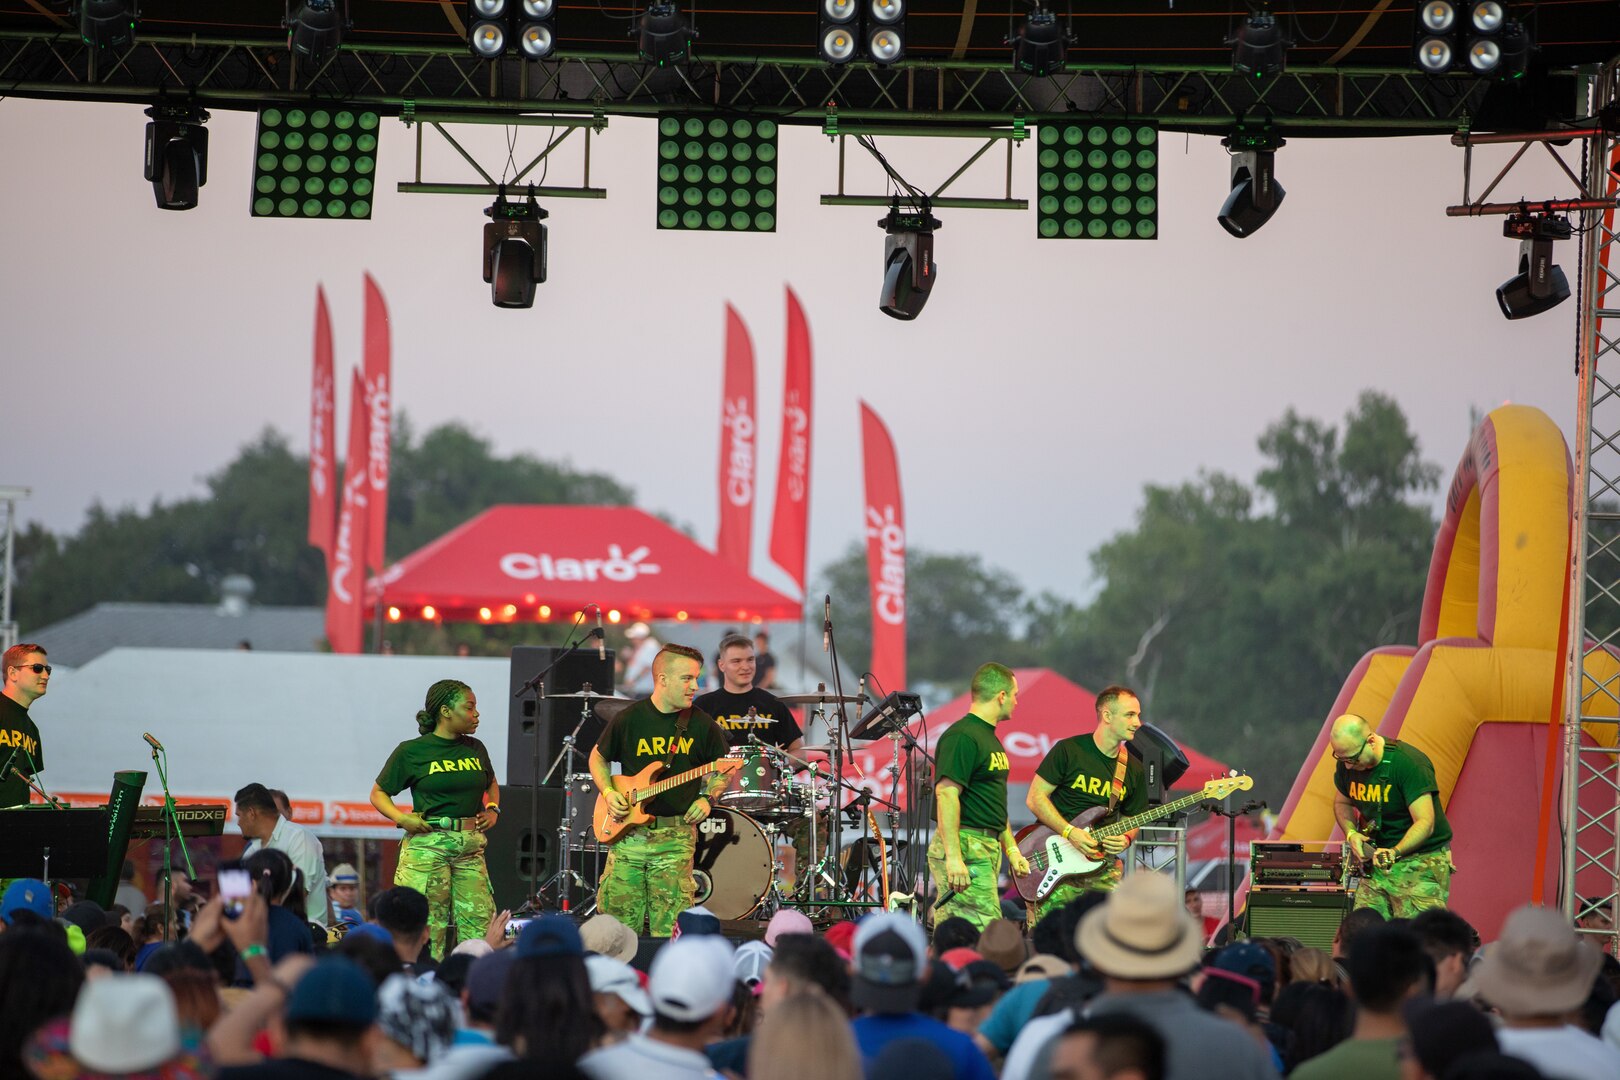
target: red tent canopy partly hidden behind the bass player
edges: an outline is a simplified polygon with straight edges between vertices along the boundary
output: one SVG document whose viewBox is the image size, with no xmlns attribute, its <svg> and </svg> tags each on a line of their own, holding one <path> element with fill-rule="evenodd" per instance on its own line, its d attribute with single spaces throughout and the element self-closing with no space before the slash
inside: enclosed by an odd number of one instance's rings
<svg viewBox="0 0 1620 1080">
<path fill-rule="evenodd" d="M 1017 711 L 1013 712 L 1011 721 L 1001 724 L 996 735 L 1008 748 L 1008 761 L 1013 766 L 1008 782 L 1029 784 L 1035 779 L 1035 767 L 1053 743 L 1069 735 L 1097 730 L 1097 695 L 1084 687 L 1076 687 L 1047 667 L 1021 667 L 1014 670 L 1014 675 L 1017 675 Z M 970 711 L 972 698 L 966 693 L 938 709 L 930 709 L 928 748 L 933 750 L 941 732 Z M 1178 745 L 1191 764 L 1181 779 L 1171 784 L 1173 790 L 1196 792 L 1210 777 L 1228 772 L 1220 761 L 1200 755 L 1186 743 Z M 888 753 L 889 743 L 878 742 L 859 751 L 857 759 L 862 769 L 872 772 L 888 764 Z"/>
</svg>

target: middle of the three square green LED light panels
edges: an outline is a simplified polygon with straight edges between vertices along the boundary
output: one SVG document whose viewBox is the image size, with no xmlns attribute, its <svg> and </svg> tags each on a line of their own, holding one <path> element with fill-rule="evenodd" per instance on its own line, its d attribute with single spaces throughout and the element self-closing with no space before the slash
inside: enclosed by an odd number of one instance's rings
<svg viewBox="0 0 1620 1080">
<path fill-rule="evenodd" d="M 776 121 L 658 121 L 658 227 L 776 232 Z"/>
</svg>

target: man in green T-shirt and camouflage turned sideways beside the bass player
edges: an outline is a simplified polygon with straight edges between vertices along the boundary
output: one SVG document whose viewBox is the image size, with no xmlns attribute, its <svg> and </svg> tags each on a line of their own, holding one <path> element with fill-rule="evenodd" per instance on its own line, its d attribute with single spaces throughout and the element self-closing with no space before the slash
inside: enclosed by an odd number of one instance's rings
<svg viewBox="0 0 1620 1080">
<path fill-rule="evenodd" d="M 1029 873 L 1029 860 L 1008 824 L 1008 751 L 996 738 L 996 725 L 1017 704 L 1017 678 L 1009 667 L 985 664 L 974 672 L 970 690 L 974 711 L 951 724 L 935 746 L 938 827 L 928 842 L 928 873 L 940 895 L 933 921 L 961 915 L 983 929 L 1001 918 L 1001 853 L 1017 874 Z"/>
</svg>

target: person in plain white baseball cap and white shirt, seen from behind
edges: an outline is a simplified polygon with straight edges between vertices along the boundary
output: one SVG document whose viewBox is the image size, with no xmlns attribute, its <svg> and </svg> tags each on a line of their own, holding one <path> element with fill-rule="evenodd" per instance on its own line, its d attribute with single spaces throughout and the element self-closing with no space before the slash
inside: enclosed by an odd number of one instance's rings
<svg viewBox="0 0 1620 1080">
<path fill-rule="evenodd" d="M 591 1080 L 710 1080 L 714 1070 L 703 1048 L 726 1030 L 732 981 L 724 938 L 687 934 L 671 941 L 648 972 L 651 1028 L 591 1051 L 580 1059 L 580 1070 Z"/>
</svg>

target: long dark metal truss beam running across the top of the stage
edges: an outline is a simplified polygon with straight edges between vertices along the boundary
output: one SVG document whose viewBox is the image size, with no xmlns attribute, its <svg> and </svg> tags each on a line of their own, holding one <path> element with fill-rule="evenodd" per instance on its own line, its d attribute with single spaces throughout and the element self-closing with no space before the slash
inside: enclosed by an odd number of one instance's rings
<svg viewBox="0 0 1620 1080">
<path fill-rule="evenodd" d="M 467 50 L 345 45 L 319 66 L 285 40 L 143 37 L 96 50 L 76 34 L 0 34 L 6 97 L 196 100 L 253 110 L 269 102 L 345 100 L 387 113 L 410 107 L 491 113 L 658 115 L 724 108 L 784 123 L 821 123 L 829 104 L 854 121 L 1008 123 L 1047 115 L 1153 120 L 1174 131 L 1223 131 L 1270 115 L 1293 134 L 1421 134 L 1468 126 L 1487 84 L 1401 68 L 1293 68 L 1270 79 L 1196 65 L 1076 66 L 1050 78 L 987 62 L 828 66 L 818 60 L 701 57 L 656 68 L 624 53 L 543 62 L 475 58 Z"/>
</svg>

